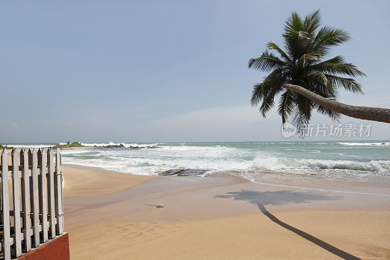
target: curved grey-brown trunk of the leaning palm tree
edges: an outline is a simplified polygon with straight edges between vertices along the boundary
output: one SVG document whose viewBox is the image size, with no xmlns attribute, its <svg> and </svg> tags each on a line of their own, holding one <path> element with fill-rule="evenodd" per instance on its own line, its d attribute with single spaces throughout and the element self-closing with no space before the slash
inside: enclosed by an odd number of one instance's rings
<svg viewBox="0 0 390 260">
<path fill-rule="evenodd" d="M 328 108 L 334 112 L 358 119 L 373 120 L 390 123 L 390 109 L 380 107 L 353 106 L 330 100 L 313 93 L 306 88 L 292 84 L 283 84 L 283 87 L 312 100 L 313 102 Z"/>
</svg>

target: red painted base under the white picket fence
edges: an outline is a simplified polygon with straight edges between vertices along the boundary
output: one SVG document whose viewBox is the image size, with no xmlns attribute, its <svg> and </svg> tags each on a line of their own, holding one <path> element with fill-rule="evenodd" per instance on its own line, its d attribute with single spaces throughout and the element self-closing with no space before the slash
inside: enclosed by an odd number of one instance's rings
<svg viewBox="0 0 390 260">
<path fill-rule="evenodd" d="M 18 260 L 70 260 L 69 234 L 64 233 L 60 237 L 39 246 L 33 251 L 18 258 Z"/>
</svg>

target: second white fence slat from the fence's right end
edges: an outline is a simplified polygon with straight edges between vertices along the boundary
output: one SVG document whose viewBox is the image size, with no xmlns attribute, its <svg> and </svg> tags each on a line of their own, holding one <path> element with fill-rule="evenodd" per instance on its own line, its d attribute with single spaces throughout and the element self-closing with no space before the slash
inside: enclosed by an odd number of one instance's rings
<svg viewBox="0 0 390 260">
<path fill-rule="evenodd" d="M 54 162 L 53 162 L 53 149 L 49 148 L 47 151 L 47 199 L 48 199 L 48 212 L 50 215 L 50 238 L 56 237 L 56 207 L 55 207 L 55 189 L 54 189 Z"/>
</svg>

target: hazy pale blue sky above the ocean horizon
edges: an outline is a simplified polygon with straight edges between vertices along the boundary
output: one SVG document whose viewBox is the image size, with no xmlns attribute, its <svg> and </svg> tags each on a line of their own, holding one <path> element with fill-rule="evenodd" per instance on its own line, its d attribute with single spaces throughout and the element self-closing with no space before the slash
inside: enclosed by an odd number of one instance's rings
<svg viewBox="0 0 390 260">
<path fill-rule="evenodd" d="M 354 38 L 333 56 L 368 75 L 358 79 L 365 95 L 341 91 L 340 101 L 390 108 L 388 0 L 0 6 L 0 142 L 284 140 L 275 111 L 263 119 L 250 106 L 265 74 L 247 62 L 268 40 L 282 44 L 292 11 L 317 8 Z M 372 125 L 370 139 L 390 139 L 390 124 Z"/>
</svg>

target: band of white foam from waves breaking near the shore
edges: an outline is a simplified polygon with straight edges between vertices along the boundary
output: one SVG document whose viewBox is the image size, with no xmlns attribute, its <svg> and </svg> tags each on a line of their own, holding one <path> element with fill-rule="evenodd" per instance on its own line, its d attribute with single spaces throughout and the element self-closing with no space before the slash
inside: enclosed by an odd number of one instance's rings
<svg viewBox="0 0 390 260">
<path fill-rule="evenodd" d="M 105 153 L 105 154 L 104 154 Z M 64 157 L 66 163 L 76 163 L 89 166 L 98 166 L 110 170 L 135 174 L 155 174 L 174 168 L 205 169 L 210 171 L 223 170 L 305 170 L 311 169 L 337 169 L 366 172 L 389 172 L 390 160 L 371 160 L 368 162 L 352 160 L 320 160 L 320 159 L 289 159 L 278 157 L 261 157 L 254 160 L 210 160 L 210 159 L 167 159 L 154 158 L 125 158 L 117 156 L 115 151 L 102 151 L 96 154 L 88 154 L 88 151 L 78 150 L 63 151 L 63 154 L 72 154 L 72 157 Z"/>
</svg>

